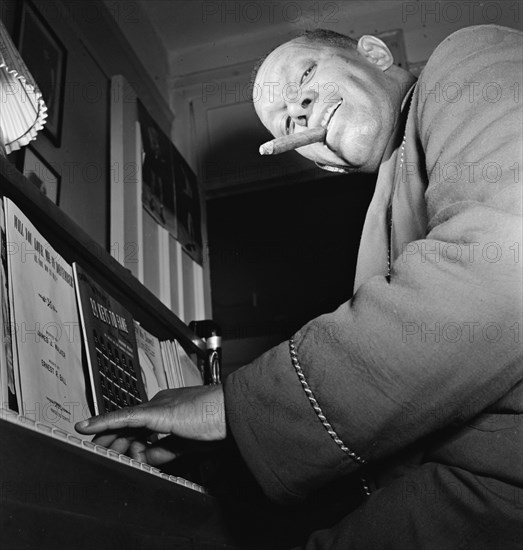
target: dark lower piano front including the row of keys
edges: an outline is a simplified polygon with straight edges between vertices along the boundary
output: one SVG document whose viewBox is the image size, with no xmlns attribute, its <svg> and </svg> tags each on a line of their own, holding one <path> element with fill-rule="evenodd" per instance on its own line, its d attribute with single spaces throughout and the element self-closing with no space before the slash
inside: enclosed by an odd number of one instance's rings
<svg viewBox="0 0 523 550">
<path fill-rule="evenodd" d="M 3 549 L 279 546 L 268 528 L 275 522 L 256 503 L 214 497 L 197 483 L 6 409 L 0 437 Z"/>
</svg>

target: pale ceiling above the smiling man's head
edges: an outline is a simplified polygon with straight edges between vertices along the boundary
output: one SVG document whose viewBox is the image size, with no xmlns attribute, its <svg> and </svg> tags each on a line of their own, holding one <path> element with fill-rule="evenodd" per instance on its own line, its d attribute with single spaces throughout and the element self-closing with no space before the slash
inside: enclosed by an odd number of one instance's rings
<svg viewBox="0 0 523 550">
<path fill-rule="evenodd" d="M 421 61 L 428 57 L 439 35 L 443 38 L 462 26 L 488 22 L 482 17 L 485 2 L 473 3 L 478 6 L 472 10 L 472 17 L 466 6 L 461 8 L 452 0 L 440 0 L 439 11 L 434 6 L 424 10 L 420 0 L 103 2 L 160 88 L 162 82 L 168 88 L 173 79 L 185 75 L 256 61 L 305 29 L 323 27 L 353 37 L 402 29 L 407 50 L 411 50 L 409 60 Z M 513 10 L 507 7 L 513 3 L 494 0 L 486 4 L 498 4 L 498 11 L 505 16 L 494 22 L 515 26 Z M 454 17 L 456 10 L 461 12 L 458 20 Z M 427 34 L 437 27 L 441 27 L 437 37 Z"/>
</svg>

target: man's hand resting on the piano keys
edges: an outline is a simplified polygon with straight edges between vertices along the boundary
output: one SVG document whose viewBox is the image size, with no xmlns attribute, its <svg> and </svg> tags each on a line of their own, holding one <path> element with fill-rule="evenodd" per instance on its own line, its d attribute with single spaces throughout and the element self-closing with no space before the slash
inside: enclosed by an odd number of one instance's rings
<svg viewBox="0 0 523 550">
<path fill-rule="evenodd" d="M 194 386 L 157 393 L 148 403 L 78 422 L 76 430 L 93 441 L 140 462 L 160 465 L 180 454 L 183 440 L 225 439 L 223 389 Z M 173 438 L 158 439 L 157 434 Z"/>
</svg>

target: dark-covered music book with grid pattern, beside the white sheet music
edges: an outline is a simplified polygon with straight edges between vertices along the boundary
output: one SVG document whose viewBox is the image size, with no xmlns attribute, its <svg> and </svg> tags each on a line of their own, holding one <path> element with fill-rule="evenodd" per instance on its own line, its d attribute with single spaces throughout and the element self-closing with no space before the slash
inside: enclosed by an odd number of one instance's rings
<svg viewBox="0 0 523 550">
<path fill-rule="evenodd" d="M 131 314 L 77 263 L 73 273 L 95 413 L 147 401 Z"/>
</svg>

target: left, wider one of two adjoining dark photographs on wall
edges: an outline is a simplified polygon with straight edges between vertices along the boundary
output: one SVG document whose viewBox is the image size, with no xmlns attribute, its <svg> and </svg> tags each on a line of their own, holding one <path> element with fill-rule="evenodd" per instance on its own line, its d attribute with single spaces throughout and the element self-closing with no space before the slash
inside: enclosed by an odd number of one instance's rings
<svg viewBox="0 0 523 550">
<path fill-rule="evenodd" d="M 142 138 L 142 203 L 151 216 L 176 237 L 173 146 L 140 102 L 138 121 Z"/>
</svg>

